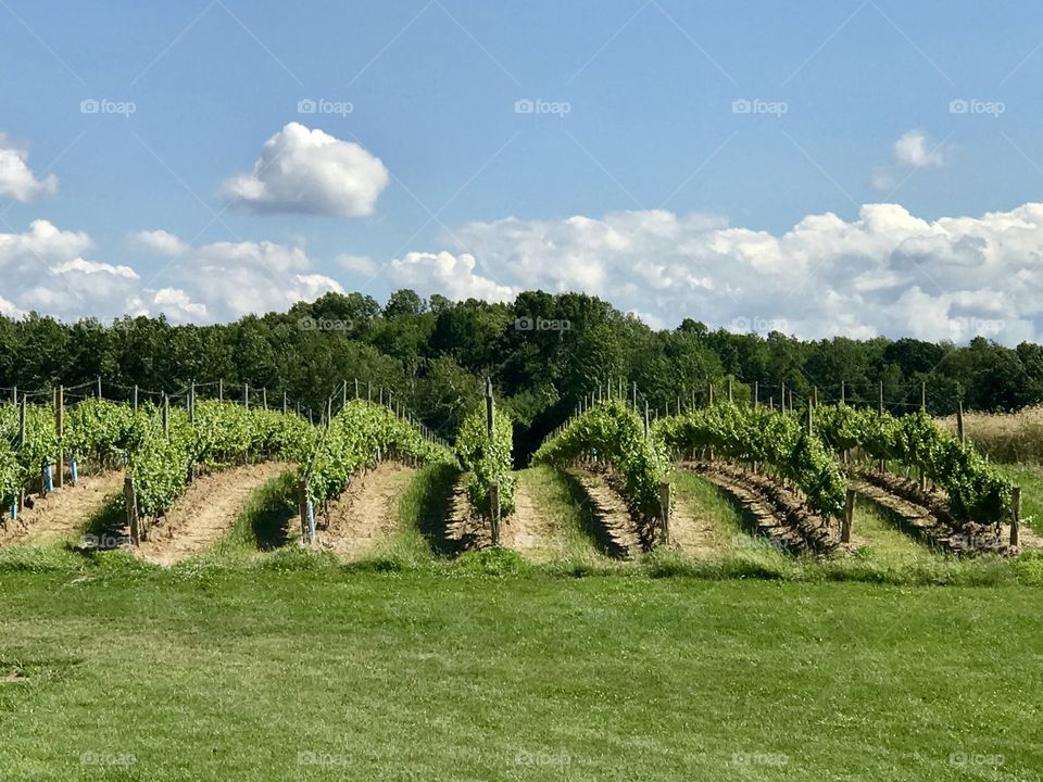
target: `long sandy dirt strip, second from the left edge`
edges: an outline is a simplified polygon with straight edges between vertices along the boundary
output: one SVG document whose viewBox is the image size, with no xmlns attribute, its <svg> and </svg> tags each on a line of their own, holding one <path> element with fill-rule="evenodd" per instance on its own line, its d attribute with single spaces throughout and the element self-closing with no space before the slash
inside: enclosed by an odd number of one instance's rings
<svg viewBox="0 0 1043 782">
<path fill-rule="evenodd" d="M 199 554 L 224 537 L 257 489 L 292 468 L 272 462 L 197 478 L 177 504 L 148 527 L 147 540 L 133 551 L 166 566 Z"/>
</svg>

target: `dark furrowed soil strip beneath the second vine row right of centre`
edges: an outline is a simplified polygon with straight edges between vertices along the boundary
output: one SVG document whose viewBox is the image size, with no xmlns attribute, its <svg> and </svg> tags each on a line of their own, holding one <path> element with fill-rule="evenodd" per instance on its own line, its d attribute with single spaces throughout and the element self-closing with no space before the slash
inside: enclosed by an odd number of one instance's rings
<svg viewBox="0 0 1043 782">
<path fill-rule="evenodd" d="M 837 547 L 838 531 L 812 512 L 796 492 L 768 476 L 724 461 L 686 465 L 734 496 L 761 532 L 780 547 L 825 553 Z"/>
</svg>

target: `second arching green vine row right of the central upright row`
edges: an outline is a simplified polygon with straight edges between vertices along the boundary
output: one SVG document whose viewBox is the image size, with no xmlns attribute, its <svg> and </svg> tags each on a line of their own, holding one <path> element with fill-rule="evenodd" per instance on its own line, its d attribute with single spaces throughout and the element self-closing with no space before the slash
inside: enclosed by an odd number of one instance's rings
<svg viewBox="0 0 1043 782">
<path fill-rule="evenodd" d="M 796 415 L 720 402 L 661 418 L 652 431 L 671 451 L 713 447 L 730 459 L 769 465 L 824 516 L 839 516 L 843 509 L 846 482 L 829 452 L 818 438 L 808 436 Z"/>
</svg>

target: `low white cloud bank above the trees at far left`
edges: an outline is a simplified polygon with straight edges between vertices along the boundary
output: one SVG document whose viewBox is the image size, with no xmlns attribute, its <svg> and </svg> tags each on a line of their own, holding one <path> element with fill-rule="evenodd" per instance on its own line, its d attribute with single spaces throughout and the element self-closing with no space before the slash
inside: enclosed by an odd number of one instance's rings
<svg viewBox="0 0 1043 782">
<path fill-rule="evenodd" d="M 167 264 L 147 274 L 89 260 L 90 237 L 47 220 L 22 234 L 0 234 L 0 313 L 21 317 L 36 311 L 66 320 L 165 314 L 173 323 L 210 323 L 342 292 L 336 280 L 315 273 L 300 248 L 273 242 L 191 247 L 165 231 L 137 234 L 133 240 L 167 256 Z"/>
</svg>

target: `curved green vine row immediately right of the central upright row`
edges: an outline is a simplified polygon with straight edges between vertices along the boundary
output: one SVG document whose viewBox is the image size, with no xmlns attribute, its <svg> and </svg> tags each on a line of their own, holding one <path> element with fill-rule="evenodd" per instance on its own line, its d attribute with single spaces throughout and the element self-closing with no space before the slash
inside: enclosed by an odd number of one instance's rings
<svg viewBox="0 0 1043 782">
<path fill-rule="evenodd" d="M 595 455 L 623 475 L 623 495 L 632 512 L 658 516 L 659 483 L 669 469 L 666 449 L 659 439 L 644 437 L 641 419 L 618 400 L 599 403 L 574 418 L 540 446 L 532 461 L 562 465 Z"/>
</svg>

